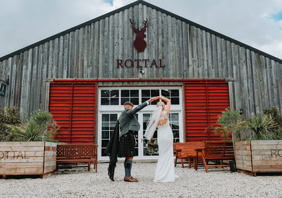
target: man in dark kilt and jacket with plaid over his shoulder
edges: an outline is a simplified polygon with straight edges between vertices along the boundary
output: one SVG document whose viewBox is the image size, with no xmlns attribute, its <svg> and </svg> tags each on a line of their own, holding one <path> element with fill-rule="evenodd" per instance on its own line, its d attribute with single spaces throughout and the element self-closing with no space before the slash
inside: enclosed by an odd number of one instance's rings
<svg viewBox="0 0 282 198">
<path fill-rule="evenodd" d="M 119 120 L 114 129 L 114 133 L 112 133 L 112 136 L 106 148 L 106 153 L 110 157 L 108 175 L 112 181 L 114 181 L 117 155 L 118 157 L 125 157 L 124 181 L 138 181 L 138 179 L 131 176 L 132 160 L 133 157 L 136 156 L 135 145 L 137 144 L 134 136 L 134 131 L 138 131 L 140 129 L 140 124 L 136 119 L 135 114 L 154 100 L 155 98 L 151 98 L 135 108 L 133 108 L 133 104 L 131 102 L 124 103 L 124 111 L 119 117 Z M 120 134 L 119 128 L 121 129 Z"/>
</svg>

